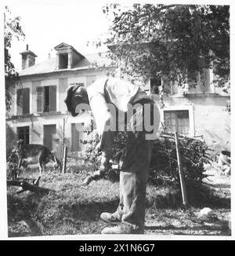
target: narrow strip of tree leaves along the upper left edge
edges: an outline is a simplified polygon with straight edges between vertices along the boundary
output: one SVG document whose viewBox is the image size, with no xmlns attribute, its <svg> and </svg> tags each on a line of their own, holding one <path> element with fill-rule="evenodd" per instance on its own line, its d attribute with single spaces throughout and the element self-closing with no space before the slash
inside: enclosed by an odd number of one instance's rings
<svg viewBox="0 0 235 256">
<path fill-rule="evenodd" d="M 4 53 L 5 53 L 5 108 L 9 112 L 12 104 L 12 96 L 9 92 L 11 86 L 20 84 L 19 74 L 11 61 L 9 50 L 12 46 L 13 38 L 20 40 L 24 38 L 24 32 L 20 26 L 20 17 L 11 17 L 9 8 L 5 6 L 4 12 Z"/>
</svg>

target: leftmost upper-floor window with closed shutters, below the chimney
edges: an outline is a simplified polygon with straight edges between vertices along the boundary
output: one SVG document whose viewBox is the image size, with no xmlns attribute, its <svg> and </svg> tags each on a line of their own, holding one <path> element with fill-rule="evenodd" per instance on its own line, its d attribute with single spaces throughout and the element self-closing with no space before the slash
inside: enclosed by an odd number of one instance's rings
<svg viewBox="0 0 235 256">
<path fill-rule="evenodd" d="M 30 89 L 17 90 L 16 95 L 17 115 L 29 114 L 30 112 Z"/>
</svg>

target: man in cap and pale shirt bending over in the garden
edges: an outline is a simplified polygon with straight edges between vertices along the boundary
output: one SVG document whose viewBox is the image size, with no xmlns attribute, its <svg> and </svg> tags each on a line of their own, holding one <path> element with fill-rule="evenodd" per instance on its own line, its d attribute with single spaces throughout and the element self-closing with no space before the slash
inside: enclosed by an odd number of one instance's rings
<svg viewBox="0 0 235 256">
<path fill-rule="evenodd" d="M 115 224 L 104 228 L 102 233 L 142 234 L 150 158 L 160 123 L 156 104 L 132 83 L 108 77 L 96 80 L 87 89 L 71 86 L 65 103 L 73 116 L 78 115 L 80 104 L 89 104 L 100 136 L 100 172 L 109 166 L 114 132 L 121 127 L 121 120 L 125 120 L 128 137 L 119 163 L 120 203 L 113 214 L 100 215 L 103 221 Z M 125 119 L 120 116 L 125 116 Z"/>
</svg>

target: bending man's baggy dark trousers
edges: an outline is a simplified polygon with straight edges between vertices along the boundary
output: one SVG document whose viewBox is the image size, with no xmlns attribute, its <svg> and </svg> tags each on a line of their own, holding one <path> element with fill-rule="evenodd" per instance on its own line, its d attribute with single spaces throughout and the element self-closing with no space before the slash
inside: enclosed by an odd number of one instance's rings
<svg viewBox="0 0 235 256">
<path fill-rule="evenodd" d="M 144 99 L 138 101 L 136 112 L 128 120 L 132 128 L 128 130 L 128 137 L 125 145 L 125 152 L 120 160 L 120 203 L 116 215 L 121 221 L 133 225 L 144 232 L 146 184 L 150 170 L 150 159 L 153 148 L 153 140 L 146 140 L 144 126 L 144 104 L 151 104 L 151 112 L 157 111 L 157 118 L 160 114 L 154 101 Z M 151 115 L 154 118 L 154 115 Z M 159 120 L 156 122 L 157 128 Z M 143 126 L 142 130 L 138 127 Z"/>
</svg>

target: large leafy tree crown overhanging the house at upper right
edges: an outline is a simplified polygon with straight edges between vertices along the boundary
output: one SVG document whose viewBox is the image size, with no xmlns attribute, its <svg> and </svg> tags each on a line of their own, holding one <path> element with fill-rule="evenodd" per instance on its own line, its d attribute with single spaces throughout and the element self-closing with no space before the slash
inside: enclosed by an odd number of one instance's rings
<svg viewBox="0 0 235 256">
<path fill-rule="evenodd" d="M 103 13 L 112 20 L 110 57 L 132 78 L 167 77 L 182 86 L 213 67 L 218 86 L 230 81 L 228 5 L 112 4 Z"/>
</svg>

